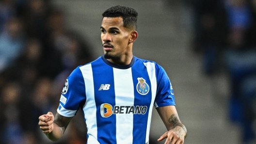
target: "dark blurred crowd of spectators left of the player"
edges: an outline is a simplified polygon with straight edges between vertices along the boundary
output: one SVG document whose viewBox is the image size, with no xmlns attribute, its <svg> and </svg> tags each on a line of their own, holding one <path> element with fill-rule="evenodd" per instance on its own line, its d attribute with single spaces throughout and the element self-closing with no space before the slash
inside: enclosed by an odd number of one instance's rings
<svg viewBox="0 0 256 144">
<path fill-rule="evenodd" d="M 38 117 L 56 112 L 66 78 L 92 61 L 91 49 L 50 0 L 0 0 L 0 144 L 50 144 Z M 55 144 L 86 144 L 79 116 Z"/>
</svg>

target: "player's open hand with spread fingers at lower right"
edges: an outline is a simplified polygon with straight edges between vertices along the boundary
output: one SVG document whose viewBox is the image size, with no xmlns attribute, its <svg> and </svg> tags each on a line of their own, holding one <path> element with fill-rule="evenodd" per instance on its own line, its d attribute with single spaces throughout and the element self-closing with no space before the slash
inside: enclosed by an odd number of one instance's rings
<svg viewBox="0 0 256 144">
<path fill-rule="evenodd" d="M 162 141 L 166 138 L 164 144 L 184 144 L 186 132 L 181 127 L 176 126 L 174 129 L 165 132 L 158 141 Z"/>
</svg>

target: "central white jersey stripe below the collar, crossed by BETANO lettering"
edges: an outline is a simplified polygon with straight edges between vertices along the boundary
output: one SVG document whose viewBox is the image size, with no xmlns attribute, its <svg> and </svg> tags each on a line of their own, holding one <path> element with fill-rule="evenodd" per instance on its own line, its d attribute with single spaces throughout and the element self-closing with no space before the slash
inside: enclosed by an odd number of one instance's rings
<svg viewBox="0 0 256 144">
<path fill-rule="evenodd" d="M 126 70 L 113 68 L 115 105 L 134 105 L 134 88 L 131 68 Z M 124 88 L 125 87 L 125 88 Z M 116 143 L 132 144 L 133 114 L 116 114 Z"/>
</svg>

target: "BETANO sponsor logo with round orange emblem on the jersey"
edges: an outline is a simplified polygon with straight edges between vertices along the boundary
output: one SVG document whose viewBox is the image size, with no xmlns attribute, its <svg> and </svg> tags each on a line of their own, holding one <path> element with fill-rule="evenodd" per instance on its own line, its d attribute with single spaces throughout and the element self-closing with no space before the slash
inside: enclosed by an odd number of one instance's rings
<svg viewBox="0 0 256 144">
<path fill-rule="evenodd" d="M 112 114 L 142 114 L 144 115 L 147 111 L 147 106 L 117 106 L 115 105 L 112 107 L 112 105 L 108 103 L 103 103 L 100 105 L 100 115 L 102 117 L 109 117 Z"/>
</svg>

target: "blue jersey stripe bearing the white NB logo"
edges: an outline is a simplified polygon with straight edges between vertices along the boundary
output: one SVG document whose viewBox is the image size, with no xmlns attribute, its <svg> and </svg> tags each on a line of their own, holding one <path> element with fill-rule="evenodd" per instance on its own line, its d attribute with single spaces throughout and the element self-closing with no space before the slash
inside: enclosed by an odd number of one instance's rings
<svg viewBox="0 0 256 144">
<path fill-rule="evenodd" d="M 113 68 L 106 65 L 102 59 L 99 59 L 92 63 L 92 69 L 97 108 L 97 140 L 100 144 L 116 144 L 116 131 L 115 127 L 113 127 L 113 124 L 115 126 L 116 123 L 116 116 L 102 117 L 100 112 L 101 104 L 115 105 Z M 103 109 L 107 112 L 105 108 Z"/>
</svg>

